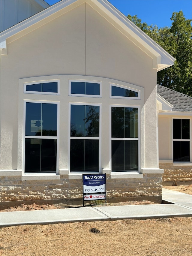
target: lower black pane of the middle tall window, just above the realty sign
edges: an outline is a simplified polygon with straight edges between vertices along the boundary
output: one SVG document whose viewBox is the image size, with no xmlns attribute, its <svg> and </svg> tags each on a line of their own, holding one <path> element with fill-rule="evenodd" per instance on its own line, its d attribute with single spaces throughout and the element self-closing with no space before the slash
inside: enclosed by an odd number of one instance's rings
<svg viewBox="0 0 192 256">
<path fill-rule="evenodd" d="M 99 140 L 70 141 L 70 171 L 99 171 Z"/>
</svg>

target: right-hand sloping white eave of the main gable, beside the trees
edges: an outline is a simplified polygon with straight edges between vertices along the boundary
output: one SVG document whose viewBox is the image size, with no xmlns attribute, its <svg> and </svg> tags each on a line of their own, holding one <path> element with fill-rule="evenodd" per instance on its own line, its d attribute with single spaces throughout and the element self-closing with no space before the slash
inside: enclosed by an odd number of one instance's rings
<svg viewBox="0 0 192 256">
<path fill-rule="evenodd" d="M 111 17 L 122 28 L 122 33 L 127 31 L 133 38 L 133 42 L 140 44 L 140 48 L 153 58 L 153 68 L 160 71 L 164 68 L 173 65 L 175 58 L 167 53 L 160 45 L 158 45 L 152 38 L 139 29 L 131 20 L 116 9 L 110 2 L 103 1 L 88 1 L 88 4 L 94 7 L 97 5 L 105 14 Z M 105 17 L 106 18 L 106 17 Z M 124 30 L 124 31 L 123 31 Z M 130 39 L 130 37 L 129 37 Z M 139 45 L 137 45 L 139 46 Z"/>
</svg>

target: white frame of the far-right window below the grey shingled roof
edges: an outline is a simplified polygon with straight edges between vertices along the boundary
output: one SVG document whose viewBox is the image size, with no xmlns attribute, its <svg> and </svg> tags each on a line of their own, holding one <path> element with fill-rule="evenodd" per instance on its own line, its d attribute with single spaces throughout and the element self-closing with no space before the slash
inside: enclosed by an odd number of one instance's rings
<svg viewBox="0 0 192 256">
<path fill-rule="evenodd" d="M 188 119 L 189 120 L 189 125 L 190 125 L 190 139 L 173 139 L 173 119 Z M 173 141 L 190 141 L 190 161 L 174 161 L 173 160 L 173 163 L 191 163 L 192 161 L 192 122 L 191 122 L 191 118 L 190 117 L 172 117 L 172 159 L 173 159 Z"/>
</svg>

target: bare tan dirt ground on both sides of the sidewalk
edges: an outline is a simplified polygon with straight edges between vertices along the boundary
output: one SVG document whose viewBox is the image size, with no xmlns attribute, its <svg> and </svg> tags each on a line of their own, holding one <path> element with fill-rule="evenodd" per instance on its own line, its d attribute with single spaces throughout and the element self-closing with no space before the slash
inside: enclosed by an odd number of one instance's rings
<svg viewBox="0 0 192 256">
<path fill-rule="evenodd" d="M 192 194 L 191 185 L 169 186 L 168 189 Z M 150 202 L 124 202 L 121 205 L 146 203 Z M 12 207 L 13 209 L 3 211 L 63 208 L 63 206 L 57 207 L 57 205 L 35 206 L 35 204 L 28 206 L 23 204 L 19 207 Z M 191 227 L 192 218 L 93 221 L 3 227 L 0 229 L 0 255 L 191 256 Z M 91 229 L 95 232 L 91 232 Z"/>
</svg>

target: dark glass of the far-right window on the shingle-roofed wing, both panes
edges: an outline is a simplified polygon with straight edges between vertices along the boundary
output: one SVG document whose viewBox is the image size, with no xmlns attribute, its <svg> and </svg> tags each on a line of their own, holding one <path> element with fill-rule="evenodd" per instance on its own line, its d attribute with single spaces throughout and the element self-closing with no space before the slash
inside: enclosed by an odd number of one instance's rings
<svg viewBox="0 0 192 256">
<path fill-rule="evenodd" d="M 173 161 L 190 161 L 190 119 L 173 119 Z"/>
</svg>

